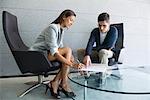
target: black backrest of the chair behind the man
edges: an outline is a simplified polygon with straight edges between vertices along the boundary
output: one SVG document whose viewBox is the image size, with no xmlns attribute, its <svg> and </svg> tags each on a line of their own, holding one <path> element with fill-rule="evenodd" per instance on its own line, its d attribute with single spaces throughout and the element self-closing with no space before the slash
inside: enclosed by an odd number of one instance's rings
<svg viewBox="0 0 150 100">
<path fill-rule="evenodd" d="M 123 30 L 123 23 L 111 24 L 111 26 L 115 26 L 118 30 L 118 39 L 115 44 L 116 50 L 121 50 L 124 48 L 124 30 Z"/>
</svg>

